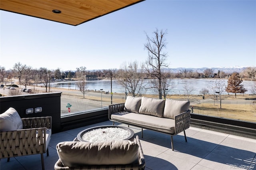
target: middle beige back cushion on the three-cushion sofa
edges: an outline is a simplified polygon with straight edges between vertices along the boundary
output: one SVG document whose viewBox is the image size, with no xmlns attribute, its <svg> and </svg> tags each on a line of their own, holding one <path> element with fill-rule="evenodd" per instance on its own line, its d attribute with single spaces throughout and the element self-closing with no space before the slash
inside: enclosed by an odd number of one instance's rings
<svg viewBox="0 0 256 170">
<path fill-rule="evenodd" d="M 162 99 L 151 99 L 142 97 L 140 105 L 140 114 L 163 117 L 164 101 Z"/>
</svg>

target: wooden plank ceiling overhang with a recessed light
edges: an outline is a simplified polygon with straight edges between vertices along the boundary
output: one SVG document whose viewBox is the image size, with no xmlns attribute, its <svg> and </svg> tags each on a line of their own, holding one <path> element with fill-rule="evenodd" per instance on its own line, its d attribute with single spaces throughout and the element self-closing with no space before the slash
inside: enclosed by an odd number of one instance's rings
<svg viewBox="0 0 256 170">
<path fill-rule="evenodd" d="M 144 0 L 0 0 L 0 10 L 77 26 Z M 56 14 L 53 10 L 60 10 Z"/>
</svg>

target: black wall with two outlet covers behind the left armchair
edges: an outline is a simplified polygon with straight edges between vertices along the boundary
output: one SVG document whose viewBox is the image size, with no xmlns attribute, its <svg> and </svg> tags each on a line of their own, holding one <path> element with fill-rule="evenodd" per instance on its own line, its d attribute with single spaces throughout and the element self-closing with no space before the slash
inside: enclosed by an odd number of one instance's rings
<svg viewBox="0 0 256 170">
<path fill-rule="evenodd" d="M 60 131 L 60 97 L 61 93 L 0 97 L 0 113 L 13 107 L 21 118 L 51 116 L 52 132 L 56 133 Z M 36 107 L 42 107 L 42 112 L 26 114 L 26 109 Z"/>
</svg>

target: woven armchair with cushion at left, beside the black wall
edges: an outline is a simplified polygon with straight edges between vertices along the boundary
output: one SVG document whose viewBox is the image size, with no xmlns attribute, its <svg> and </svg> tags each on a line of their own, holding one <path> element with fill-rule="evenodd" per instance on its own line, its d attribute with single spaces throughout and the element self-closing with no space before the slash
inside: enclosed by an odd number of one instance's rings
<svg viewBox="0 0 256 170">
<path fill-rule="evenodd" d="M 41 154 L 42 169 L 44 156 L 52 134 L 52 117 L 20 119 L 14 108 L 0 115 L 0 158 Z"/>
</svg>

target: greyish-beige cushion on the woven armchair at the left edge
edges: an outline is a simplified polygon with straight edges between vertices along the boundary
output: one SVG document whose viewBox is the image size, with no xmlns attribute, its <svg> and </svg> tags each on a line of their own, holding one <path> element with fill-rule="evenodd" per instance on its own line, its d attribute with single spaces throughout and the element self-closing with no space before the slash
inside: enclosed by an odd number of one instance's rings
<svg viewBox="0 0 256 170">
<path fill-rule="evenodd" d="M 0 132 L 22 129 L 23 124 L 18 112 L 10 107 L 0 115 Z"/>
</svg>

